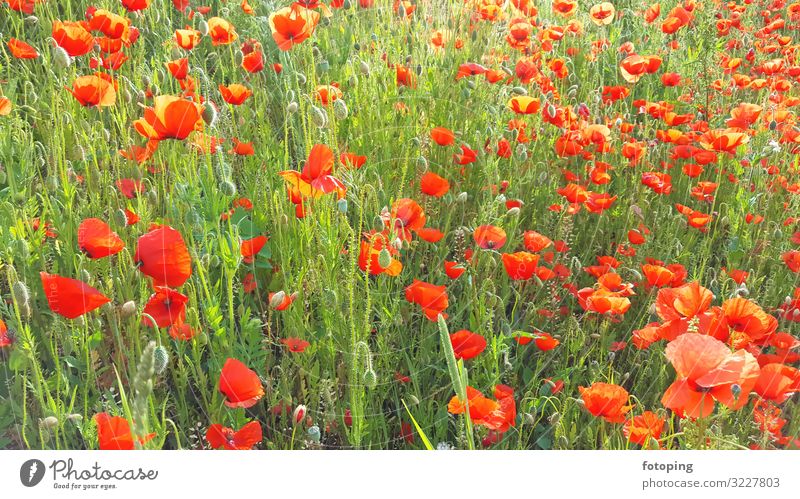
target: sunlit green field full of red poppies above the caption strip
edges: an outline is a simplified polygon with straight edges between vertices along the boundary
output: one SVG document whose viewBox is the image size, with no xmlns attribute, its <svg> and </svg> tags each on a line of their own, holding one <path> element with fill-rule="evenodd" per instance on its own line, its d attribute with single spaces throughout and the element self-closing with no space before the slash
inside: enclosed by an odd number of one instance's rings
<svg viewBox="0 0 800 499">
<path fill-rule="evenodd" d="M 0 448 L 800 447 L 798 29 L 0 0 Z"/>
</svg>

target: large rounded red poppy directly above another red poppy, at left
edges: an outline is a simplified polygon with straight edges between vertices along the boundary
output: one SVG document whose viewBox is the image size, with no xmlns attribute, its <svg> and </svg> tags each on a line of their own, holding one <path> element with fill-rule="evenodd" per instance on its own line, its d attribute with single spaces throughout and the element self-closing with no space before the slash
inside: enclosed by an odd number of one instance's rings
<svg viewBox="0 0 800 499">
<path fill-rule="evenodd" d="M 139 238 L 133 261 L 156 286 L 178 288 L 192 275 L 192 257 L 183 237 L 166 225 L 156 226 Z"/>
</svg>

